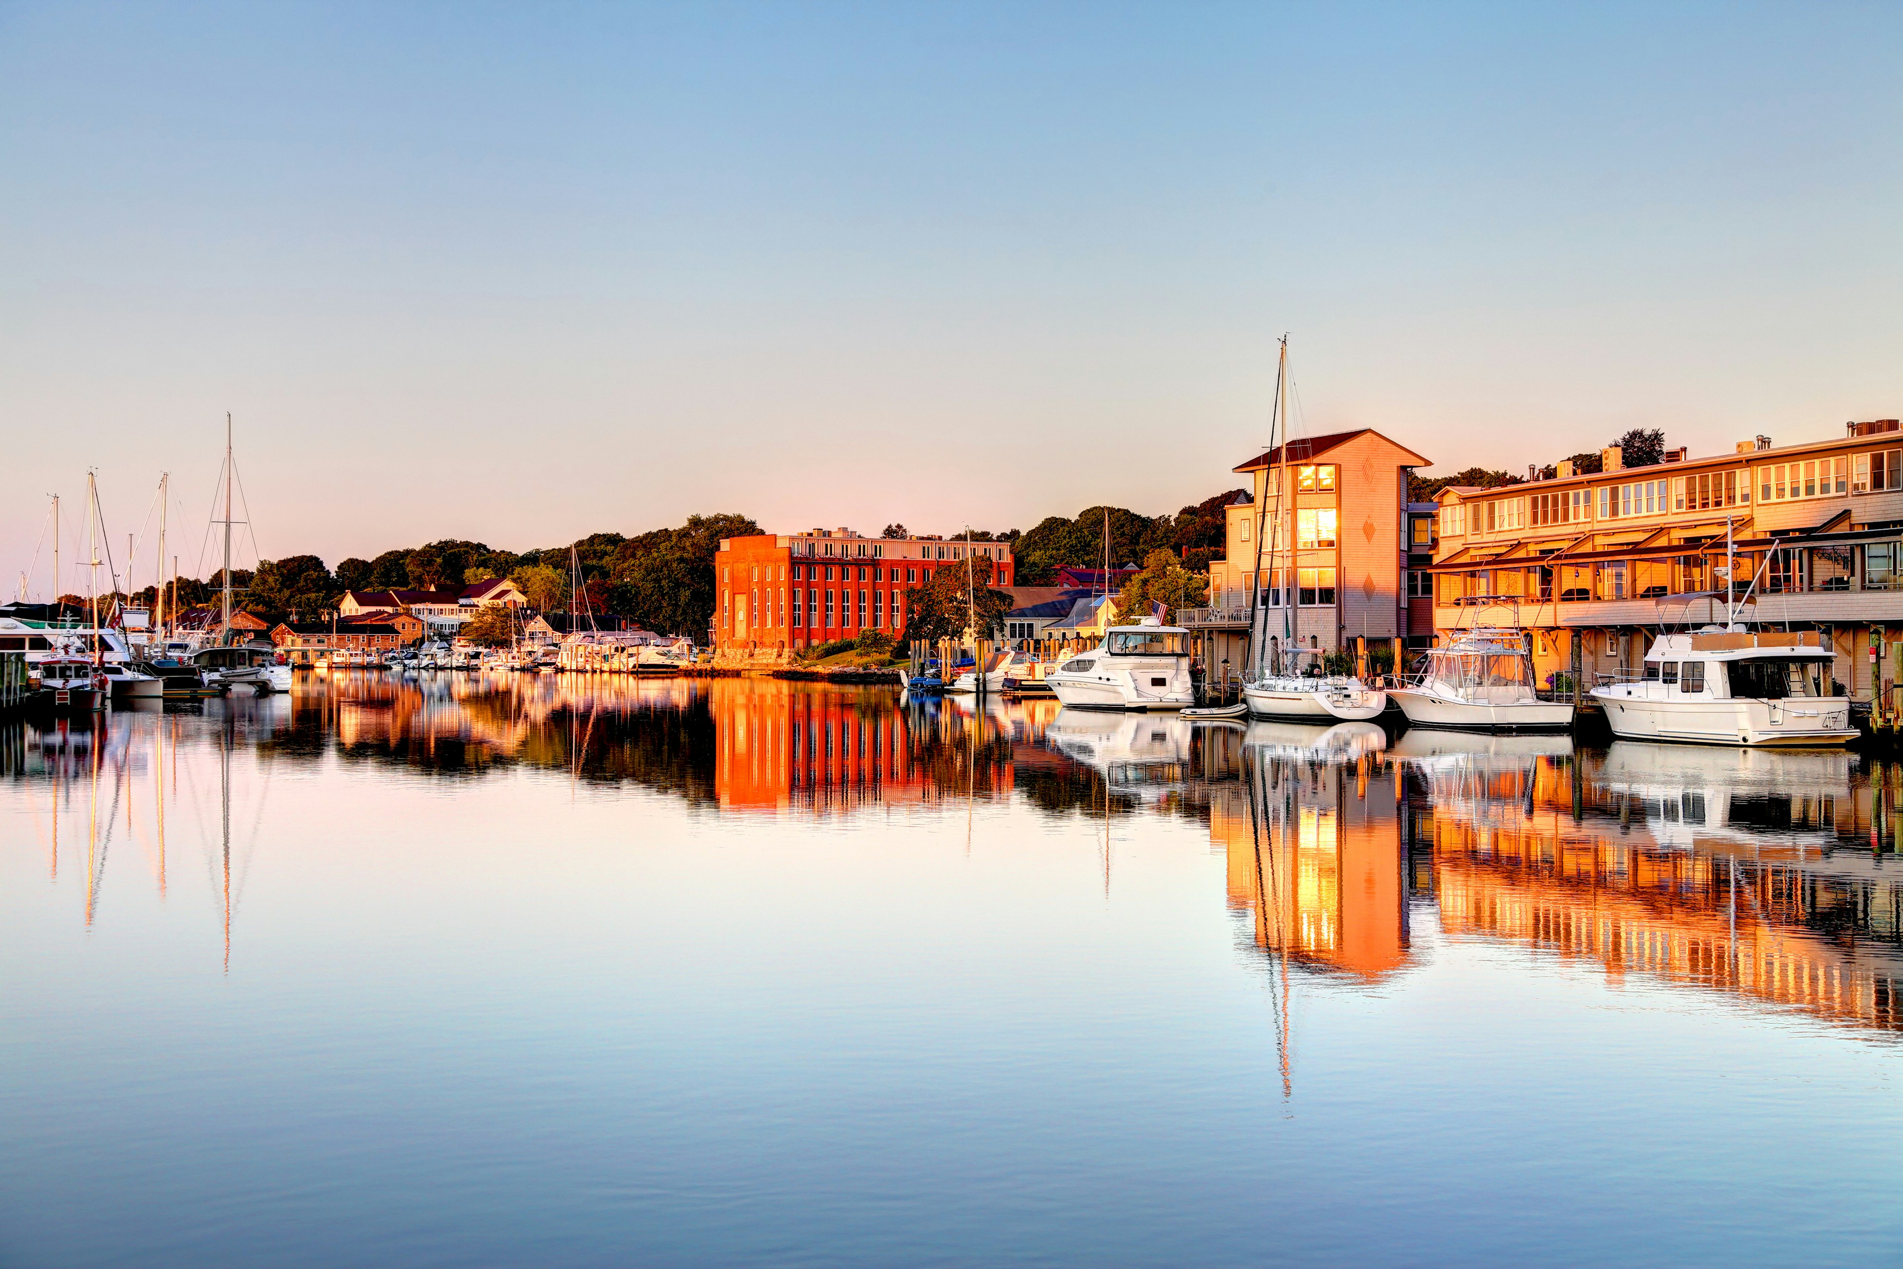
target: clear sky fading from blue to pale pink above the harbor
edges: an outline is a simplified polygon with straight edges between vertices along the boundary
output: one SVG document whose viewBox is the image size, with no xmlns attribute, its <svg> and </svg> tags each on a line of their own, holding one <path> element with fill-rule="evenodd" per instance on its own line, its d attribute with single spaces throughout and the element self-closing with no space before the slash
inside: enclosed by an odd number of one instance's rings
<svg viewBox="0 0 1903 1269">
<path fill-rule="evenodd" d="M 4 4 L 0 567 L 1168 512 L 1903 413 L 1903 8 Z M 150 565 L 143 565 L 148 569 Z M 44 590 L 42 563 L 42 584 Z M 135 578 L 143 584 L 145 578 Z"/>
</svg>

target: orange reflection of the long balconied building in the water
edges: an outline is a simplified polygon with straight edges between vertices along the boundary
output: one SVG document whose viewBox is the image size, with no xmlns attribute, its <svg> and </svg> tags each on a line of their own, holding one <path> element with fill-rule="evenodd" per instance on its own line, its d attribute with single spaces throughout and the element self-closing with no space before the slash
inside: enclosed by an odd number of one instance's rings
<svg viewBox="0 0 1903 1269">
<path fill-rule="evenodd" d="M 1650 972 L 1903 1027 L 1903 887 L 1863 875 L 1867 847 L 1831 858 L 1804 845 L 1827 831 L 1859 835 L 1848 771 L 1829 803 L 1833 824 L 1815 814 L 1825 799 L 1804 778 L 1812 755 L 1766 763 L 1775 757 L 1734 767 L 1736 790 L 1680 771 L 1705 755 L 1656 746 L 1616 746 L 1604 759 L 1475 753 L 1422 765 L 1422 885 L 1454 938 L 1505 938 L 1589 957 L 1610 976 Z M 1753 843 L 1739 826 L 1764 797 L 1789 810 L 1779 831 Z"/>
</svg>

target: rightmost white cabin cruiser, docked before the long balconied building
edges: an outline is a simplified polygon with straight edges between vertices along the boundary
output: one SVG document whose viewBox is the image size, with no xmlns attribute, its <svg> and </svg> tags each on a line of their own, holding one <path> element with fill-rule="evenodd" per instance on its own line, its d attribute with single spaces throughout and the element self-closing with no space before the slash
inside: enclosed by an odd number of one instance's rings
<svg viewBox="0 0 1903 1269">
<path fill-rule="evenodd" d="M 1855 740 L 1850 698 L 1825 696 L 1836 654 L 1815 632 L 1707 626 L 1659 635 L 1642 677 L 1593 689 L 1612 734 L 1730 746 L 1833 746 Z"/>
</svg>

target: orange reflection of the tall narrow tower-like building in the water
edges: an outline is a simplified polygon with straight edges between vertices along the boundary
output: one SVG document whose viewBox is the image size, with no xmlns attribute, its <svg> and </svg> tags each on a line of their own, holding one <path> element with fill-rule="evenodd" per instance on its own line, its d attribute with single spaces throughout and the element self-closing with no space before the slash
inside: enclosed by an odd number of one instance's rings
<svg viewBox="0 0 1903 1269">
<path fill-rule="evenodd" d="M 1243 782 L 1210 805 L 1210 835 L 1227 854 L 1229 904 L 1252 915 L 1258 947 L 1363 978 L 1406 965 L 1395 780 L 1376 757 L 1245 753 Z"/>
</svg>

